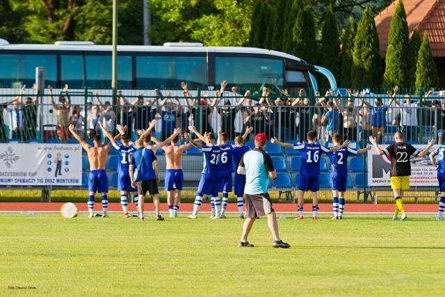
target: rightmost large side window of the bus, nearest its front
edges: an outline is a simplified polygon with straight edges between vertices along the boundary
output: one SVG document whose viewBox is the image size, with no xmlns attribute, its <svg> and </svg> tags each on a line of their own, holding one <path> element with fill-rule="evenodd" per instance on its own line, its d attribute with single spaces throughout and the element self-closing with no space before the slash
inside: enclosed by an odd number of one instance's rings
<svg viewBox="0 0 445 297">
<path fill-rule="evenodd" d="M 216 83 L 227 81 L 244 89 L 258 90 L 265 85 L 283 87 L 283 61 L 268 58 L 216 57 Z"/>
</svg>

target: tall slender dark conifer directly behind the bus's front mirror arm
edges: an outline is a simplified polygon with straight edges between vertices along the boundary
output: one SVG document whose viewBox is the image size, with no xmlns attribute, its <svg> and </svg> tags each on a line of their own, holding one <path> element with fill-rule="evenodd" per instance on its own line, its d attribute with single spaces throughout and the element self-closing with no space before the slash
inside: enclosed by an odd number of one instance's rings
<svg viewBox="0 0 445 297">
<path fill-rule="evenodd" d="M 325 15 L 325 22 L 321 29 L 321 66 L 327 68 L 334 74 L 334 77 L 339 81 L 340 77 L 340 40 L 337 20 L 335 19 L 332 5 Z M 326 80 L 321 81 L 321 89 L 329 88 L 329 83 Z"/>
</svg>

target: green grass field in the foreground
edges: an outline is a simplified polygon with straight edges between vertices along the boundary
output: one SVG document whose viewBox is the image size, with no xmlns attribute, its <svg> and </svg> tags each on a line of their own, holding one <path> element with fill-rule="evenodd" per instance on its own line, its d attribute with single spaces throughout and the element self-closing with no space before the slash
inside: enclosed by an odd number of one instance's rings
<svg viewBox="0 0 445 297">
<path fill-rule="evenodd" d="M 65 219 L 0 214 L 0 296 L 434 296 L 443 294 L 444 222 L 356 215 L 242 221 Z M 20 289 L 25 287 L 26 289 Z"/>
</svg>

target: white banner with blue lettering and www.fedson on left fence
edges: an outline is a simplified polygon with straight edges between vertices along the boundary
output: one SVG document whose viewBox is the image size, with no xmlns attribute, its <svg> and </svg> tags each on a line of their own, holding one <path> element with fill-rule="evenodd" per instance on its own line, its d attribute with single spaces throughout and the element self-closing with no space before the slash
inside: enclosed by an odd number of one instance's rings
<svg viewBox="0 0 445 297">
<path fill-rule="evenodd" d="M 1 185 L 80 186 L 81 179 L 81 145 L 0 143 Z"/>
</svg>

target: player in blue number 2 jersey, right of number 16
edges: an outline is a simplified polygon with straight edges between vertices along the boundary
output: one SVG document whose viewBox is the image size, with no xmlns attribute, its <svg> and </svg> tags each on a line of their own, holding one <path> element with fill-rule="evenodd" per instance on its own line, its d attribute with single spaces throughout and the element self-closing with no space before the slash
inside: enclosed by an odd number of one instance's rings
<svg viewBox="0 0 445 297">
<path fill-rule="evenodd" d="M 335 133 L 332 135 L 334 146 L 340 145 L 341 135 Z M 334 216 L 332 220 L 341 220 L 345 209 L 345 192 L 348 181 L 348 156 L 351 154 L 363 154 L 371 150 L 371 145 L 364 149 L 353 150 L 350 147 L 343 147 L 335 152 L 327 153 L 331 161 L 331 188 L 332 188 L 332 210 Z"/>
</svg>

